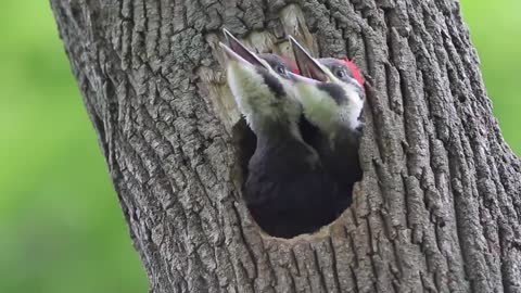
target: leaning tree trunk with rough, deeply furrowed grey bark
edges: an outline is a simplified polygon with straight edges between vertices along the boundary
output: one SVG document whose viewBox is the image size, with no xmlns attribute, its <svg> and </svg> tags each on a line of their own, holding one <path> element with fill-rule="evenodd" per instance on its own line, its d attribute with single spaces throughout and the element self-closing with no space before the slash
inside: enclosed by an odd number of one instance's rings
<svg viewBox="0 0 521 293">
<path fill-rule="evenodd" d="M 520 162 L 457 1 L 51 2 L 151 292 L 521 292 Z M 373 79 L 355 203 L 316 234 L 244 206 L 221 27 Z"/>
</svg>

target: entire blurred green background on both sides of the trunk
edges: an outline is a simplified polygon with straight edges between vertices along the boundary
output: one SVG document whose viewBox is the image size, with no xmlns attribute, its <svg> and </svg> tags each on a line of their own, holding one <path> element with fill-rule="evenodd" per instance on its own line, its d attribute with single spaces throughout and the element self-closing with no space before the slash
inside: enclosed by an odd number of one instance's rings
<svg viewBox="0 0 521 293">
<path fill-rule="evenodd" d="M 461 4 L 521 154 L 521 1 Z M 0 27 L 0 292 L 147 292 L 48 1 L 2 1 Z"/>
</svg>

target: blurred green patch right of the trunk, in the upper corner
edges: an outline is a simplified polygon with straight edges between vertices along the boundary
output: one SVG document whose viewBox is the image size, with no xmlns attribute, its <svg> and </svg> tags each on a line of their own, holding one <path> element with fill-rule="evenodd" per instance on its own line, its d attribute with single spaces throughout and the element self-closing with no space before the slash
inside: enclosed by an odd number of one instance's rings
<svg viewBox="0 0 521 293">
<path fill-rule="evenodd" d="M 516 154 L 521 155 L 521 1 L 461 0 L 463 20 L 478 49 L 494 115 Z"/>
</svg>

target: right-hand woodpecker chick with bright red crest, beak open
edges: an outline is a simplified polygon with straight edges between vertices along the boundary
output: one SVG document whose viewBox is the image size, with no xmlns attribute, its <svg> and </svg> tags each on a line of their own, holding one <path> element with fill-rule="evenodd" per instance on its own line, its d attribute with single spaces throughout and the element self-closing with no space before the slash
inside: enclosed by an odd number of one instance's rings
<svg viewBox="0 0 521 293">
<path fill-rule="evenodd" d="M 314 142 L 326 169 L 341 187 L 339 213 L 352 202 L 353 184 L 361 179 L 358 158 L 365 90 L 356 65 L 344 59 L 314 59 L 290 37 L 301 75 L 295 81 L 305 118 L 319 129 Z"/>
</svg>

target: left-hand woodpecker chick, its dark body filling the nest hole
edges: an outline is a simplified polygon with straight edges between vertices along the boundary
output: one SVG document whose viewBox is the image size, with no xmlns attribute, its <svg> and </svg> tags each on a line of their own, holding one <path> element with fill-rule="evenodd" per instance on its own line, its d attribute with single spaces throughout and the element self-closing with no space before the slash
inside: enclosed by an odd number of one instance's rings
<svg viewBox="0 0 521 293">
<path fill-rule="evenodd" d="M 338 187 L 318 154 L 298 131 L 302 115 L 289 78 L 275 55 L 256 55 L 225 30 L 230 47 L 228 84 L 240 112 L 257 137 L 244 184 L 246 205 L 269 234 L 291 238 L 334 219 Z"/>
</svg>

